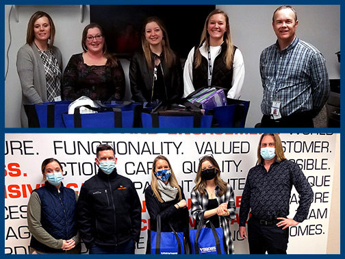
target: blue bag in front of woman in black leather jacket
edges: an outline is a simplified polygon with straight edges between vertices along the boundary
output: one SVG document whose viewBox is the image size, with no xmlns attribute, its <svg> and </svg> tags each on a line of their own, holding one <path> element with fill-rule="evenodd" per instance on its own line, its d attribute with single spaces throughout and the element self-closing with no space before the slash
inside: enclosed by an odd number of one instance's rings
<svg viewBox="0 0 345 259">
<path fill-rule="evenodd" d="M 153 110 L 142 112 L 142 127 L 211 127 L 212 116 L 186 99 L 178 103 L 164 101 Z"/>
</svg>

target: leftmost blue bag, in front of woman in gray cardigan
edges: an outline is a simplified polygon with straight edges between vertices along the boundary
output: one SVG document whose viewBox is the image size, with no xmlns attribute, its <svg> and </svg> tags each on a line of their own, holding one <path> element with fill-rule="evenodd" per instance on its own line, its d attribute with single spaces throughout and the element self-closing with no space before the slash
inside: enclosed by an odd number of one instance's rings
<svg viewBox="0 0 345 259">
<path fill-rule="evenodd" d="M 49 101 L 40 104 L 24 104 L 29 127 L 65 127 L 62 114 L 71 101 Z"/>
</svg>

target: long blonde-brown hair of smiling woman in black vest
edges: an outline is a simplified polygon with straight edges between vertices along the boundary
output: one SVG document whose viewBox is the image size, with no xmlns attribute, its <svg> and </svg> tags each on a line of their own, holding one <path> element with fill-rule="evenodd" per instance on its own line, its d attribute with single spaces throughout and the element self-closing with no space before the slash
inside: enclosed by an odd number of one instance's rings
<svg viewBox="0 0 345 259">
<path fill-rule="evenodd" d="M 227 50 L 225 51 L 225 56 L 224 56 L 224 63 L 225 66 L 227 67 L 227 69 L 231 69 L 232 64 L 233 64 L 233 42 L 231 40 L 231 32 L 230 32 L 230 25 L 229 25 L 229 16 L 227 15 L 226 12 L 220 10 L 220 9 L 216 9 L 213 10 L 212 12 L 209 13 L 209 15 L 206 18 L 205 21 L 205 25 L 203 28 L 203 33 L 201 34 L 201 40 L 200 40 L 200 44 L 199 47 L 201 47 L 203 45 L 203 43 L 205 42 L 206 44 L 206 48 L 208 49 L 209 47 L 209 34 L 207 32 L 207 27 L 208 27 L 208 23 L 209 23 L 209 19 L 214 15 L 214 14 L 222 14 L 223 16 L 225 16 L 225 21 L 227 23 L 226 27 L 227 27 L 227 31 L 224 33 L 223 35 L 223 40 L 225 41 L 225 43 L 227 44 Z M 196 58 L 194 60 L 194 64 L 195 67 L 200 66 L 201 64 L 201 59 L 203 57 L 201 56 L 201 53 L 199 51 L 199 48 L 196 49 Z"/>
</svg>

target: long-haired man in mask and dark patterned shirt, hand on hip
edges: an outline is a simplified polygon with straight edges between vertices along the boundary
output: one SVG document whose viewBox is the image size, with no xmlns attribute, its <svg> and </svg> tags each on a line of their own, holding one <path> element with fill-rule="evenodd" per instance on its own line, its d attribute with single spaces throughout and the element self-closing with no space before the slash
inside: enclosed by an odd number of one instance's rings
<svg viewBox="0 0 345 259">
<path fill-rule="evenodd" d="M 293 219 L 288 219 L 292 185 L 300 195 Z M 287 160 L 278 134 L 262 134 L 257 165 L 249 170 L 240 206 L 240 236 L 251 254 L 286 254 L 289 227 L 308 217 L 313 190 L 298 164 Z"/>
</svg>

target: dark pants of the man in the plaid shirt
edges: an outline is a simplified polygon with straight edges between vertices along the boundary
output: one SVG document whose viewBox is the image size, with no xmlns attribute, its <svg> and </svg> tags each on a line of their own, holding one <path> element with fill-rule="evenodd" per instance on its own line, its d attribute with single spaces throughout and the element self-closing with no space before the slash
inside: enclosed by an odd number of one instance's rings
<svg viewBox="0 0 345 259">
<path fill-rule="evenodd" d="M 300 112 L 277 120 L 264 115 L 261 119 L 261 127 L 314 127 L 313 115 L 311 112 Z"/>
</svg>

